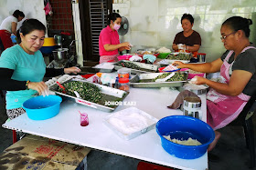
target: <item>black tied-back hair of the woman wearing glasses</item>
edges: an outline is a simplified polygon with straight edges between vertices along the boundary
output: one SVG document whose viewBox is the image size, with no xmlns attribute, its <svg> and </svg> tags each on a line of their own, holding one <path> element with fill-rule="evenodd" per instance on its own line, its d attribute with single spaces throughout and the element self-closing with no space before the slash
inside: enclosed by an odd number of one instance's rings
<svg viewBox="0 0 256 170">
<path fill-rule="evenodd" d="M 224 21 L 223 25 L 228 25 L 230 29 L 233 31 L 242 30 L 246 37 L 250 36 L 250 28 L 249 26 L 252 25 L 251 19 L 247 19 L 241 16 L 232 16 L 229 17 L 226 21 Z"/>
</svg>

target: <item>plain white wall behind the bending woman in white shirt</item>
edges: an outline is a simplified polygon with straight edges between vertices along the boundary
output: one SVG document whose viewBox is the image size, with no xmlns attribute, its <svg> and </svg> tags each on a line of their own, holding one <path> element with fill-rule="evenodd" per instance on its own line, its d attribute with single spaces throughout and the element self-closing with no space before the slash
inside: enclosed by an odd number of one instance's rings
<svg viewBox="0 0 256 170">
<path fill-rule="evenodd" d="M 44 0 L 0 0 L 0 23 L 5 17 L 13 15 L 16 9 L 22 11 L 26 18 L 36 18 L 44 25 L 47 24 Z M 17 28 L 22 22 L 18 23 Z"/>
</svg>

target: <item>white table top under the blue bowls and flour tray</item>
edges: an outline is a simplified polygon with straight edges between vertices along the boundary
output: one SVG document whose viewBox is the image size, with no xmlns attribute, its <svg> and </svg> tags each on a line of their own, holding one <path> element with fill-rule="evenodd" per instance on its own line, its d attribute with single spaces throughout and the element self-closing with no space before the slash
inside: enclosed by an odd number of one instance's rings
<svg viewBox="0 0 256 170">
<path fill-rule="evenodd" d="M 144 112 L 161 119 L 168 115 L 182 115 L 180 110 L 168 109 L 178 95 L 171 88 L 131 88 L 124 101 L 134 102 L 133 105 Z M 206 95 L 199 95 L 202 100 L 203 120 L 206 121 Z M 131 104 L 131 103 L 130 103 Z M 119 105 L 116 111 L 129 107 Z M 89 115 L 88 126 L 80 126 L 80 112 Z M 208 168 L 207 153 L 197 159 L 180 159 L 165 152 L 160 137 L 155 129 L 139 135 L 129 141 L 123 140 L 103 124 L 103 119 L 111 113 L 102 112 L 91 107 L 65 101 L 60 106 L 59 115 L 44 121 L 34 121 L 27 114 L 20 115 L 3 125 L 5 128 L 23 131 L 28 134 L 44 136 L 76 145 L 88 146 L 110 153 L 125 155 L 159 165 L 167 165 L 179 169 Z"/>
</svg>

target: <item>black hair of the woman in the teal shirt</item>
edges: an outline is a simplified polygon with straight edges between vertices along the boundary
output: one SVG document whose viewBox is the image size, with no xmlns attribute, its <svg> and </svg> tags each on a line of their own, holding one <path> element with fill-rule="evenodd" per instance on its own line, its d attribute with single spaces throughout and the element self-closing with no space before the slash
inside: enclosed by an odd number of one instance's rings
<svg viewBox="0 0 256 170">
<path fill-rule="evenodd" d="M 25 20 L 22 25 L 20 26 L 20 28 L 18 29 L 17 33 L 16 33 L 16 39 L 17 39 L 17 43 L 21 43 L 21 38 L 19 33 L 22 33 L 22 35 L 27 35 L 29 33 L 31 33 L 34 30 L 39 30 L 39 31 L 44 31 L 46 33 L 46 26 L 43 25 L 40 21 L 38 21 L 37 19 L 27 19 Z"/>
</svg>

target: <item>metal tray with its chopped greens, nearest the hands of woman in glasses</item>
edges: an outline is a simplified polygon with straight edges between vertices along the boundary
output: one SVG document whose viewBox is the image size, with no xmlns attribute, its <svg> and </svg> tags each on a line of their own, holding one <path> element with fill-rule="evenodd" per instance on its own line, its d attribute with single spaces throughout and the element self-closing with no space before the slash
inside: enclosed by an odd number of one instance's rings
<svg viewBox="0 0 256 170">
<path fill-rule="evenodd" d="M 135 75 L 130 80 L 130 85 L 137 88 L 150 88 L 150 87 L 178 87 L 187 82 L 188 72 L 176 72 L 176 75 L 172 76 L 165 82 L 155 82 L 158 78 L 165 78 L 171 73 L 153 73 L 153 74 L 140 74 Z"/>
</svg>

